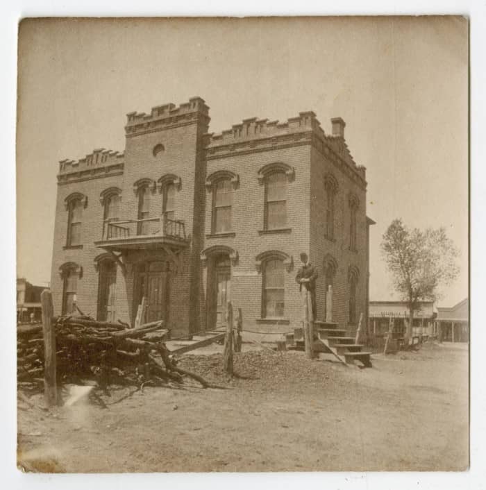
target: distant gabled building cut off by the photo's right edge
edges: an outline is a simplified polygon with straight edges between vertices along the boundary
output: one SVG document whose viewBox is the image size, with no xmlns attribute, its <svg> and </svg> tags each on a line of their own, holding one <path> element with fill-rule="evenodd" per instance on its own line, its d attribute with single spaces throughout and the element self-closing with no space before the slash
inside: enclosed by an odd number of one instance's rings
<svg viewBox="0 0 486 490">
<path fill-rule="evenodd" d="M 435 329 L 445 342 L 469 342 L 469 298 L 453 307 L 437 308 Z"/>
</svg>

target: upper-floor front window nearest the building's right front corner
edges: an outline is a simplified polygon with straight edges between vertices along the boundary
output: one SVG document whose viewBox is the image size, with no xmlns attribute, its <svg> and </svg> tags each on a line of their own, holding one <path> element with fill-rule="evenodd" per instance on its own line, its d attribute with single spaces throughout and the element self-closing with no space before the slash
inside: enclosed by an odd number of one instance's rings
<svg viewBox="0 0 486 490">
<path fill-rule="evenodd" d="M 287 225 L 287 176 L 274 172 L 265 179 L 265 230 Z"/>
</svg>

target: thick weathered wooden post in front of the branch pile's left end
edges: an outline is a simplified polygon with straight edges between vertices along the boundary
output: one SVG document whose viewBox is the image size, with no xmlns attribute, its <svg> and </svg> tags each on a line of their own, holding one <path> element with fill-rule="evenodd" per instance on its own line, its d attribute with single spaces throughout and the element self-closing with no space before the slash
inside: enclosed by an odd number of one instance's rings
<svg viewBox="0 0 486 490">
<path fill-rule="evenodd" d="M 46 407 L 58 403 L 58 385 L 56 380 L 56 330 L 52 324 L 52 293 L 44 289 L 40 294 L 42 307 L 42 330 L 44 333 L 44 400 Z"/>
</svg>

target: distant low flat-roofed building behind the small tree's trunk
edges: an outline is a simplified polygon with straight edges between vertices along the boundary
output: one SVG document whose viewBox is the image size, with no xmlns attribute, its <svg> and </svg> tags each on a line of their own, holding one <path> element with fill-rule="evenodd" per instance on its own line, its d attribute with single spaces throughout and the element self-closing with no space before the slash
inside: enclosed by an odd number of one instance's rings
<svg viewBox="0 0 486 490">
<path fill-rule="evenodd" d="M 433 301 L 421 301 L 414 311 L 412 335 L 433 335 L 435 315 Z M 387 335 L 390 319 L 394 319 L 394 336 L 403 337 L 408 317 L 405 301 L 369 302 L 369 332 L 376 337 Z"/>
</svg>

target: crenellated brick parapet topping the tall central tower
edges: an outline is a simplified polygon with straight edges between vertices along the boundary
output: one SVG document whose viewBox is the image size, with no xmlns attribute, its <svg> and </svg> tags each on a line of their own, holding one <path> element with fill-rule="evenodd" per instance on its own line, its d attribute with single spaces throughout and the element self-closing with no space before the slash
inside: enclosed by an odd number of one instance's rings
<svg viewBox="0 0 486 490">
<path fill-rule="evenodd" d="M 126 115 L 126 137 L 149 133 L 160 128 L 191 124 L 198 119 L 209 124 L 209 108 L 201 97 L 192 97 L 189 102 L 176 107 L 173 103 L 156 105 L 149 114 L 146 112 L 128 112 Z"/>
</svg>

